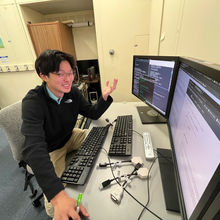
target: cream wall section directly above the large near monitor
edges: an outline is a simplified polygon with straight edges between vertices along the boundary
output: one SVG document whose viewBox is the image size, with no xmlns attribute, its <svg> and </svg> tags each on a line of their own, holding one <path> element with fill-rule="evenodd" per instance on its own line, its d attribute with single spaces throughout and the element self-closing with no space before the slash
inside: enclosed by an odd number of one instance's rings
<svg viewBox="0 0 220 220">
<path fill-rule="evenodd" d="M 219 9 L 218 0 L 166 0 L 159 54 L 220 64 Z"/>
</svg>

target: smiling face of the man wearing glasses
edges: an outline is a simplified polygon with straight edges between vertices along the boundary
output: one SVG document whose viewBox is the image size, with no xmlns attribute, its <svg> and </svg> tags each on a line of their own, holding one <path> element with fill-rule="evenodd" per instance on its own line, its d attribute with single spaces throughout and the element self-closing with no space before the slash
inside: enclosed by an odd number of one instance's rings
<svg viewBox="0 0 220 220">
<path fill-rule="evenodd" d="M 41 78 L 47 83 L 49 90 L 57 98 L 61 98 L 64 93 L 70 92 L 74 74 L 68 61 L 65 60 L 60 63 L 58 73 L 49 74 L 49 77 L 41 74 Z"/>
</svg>

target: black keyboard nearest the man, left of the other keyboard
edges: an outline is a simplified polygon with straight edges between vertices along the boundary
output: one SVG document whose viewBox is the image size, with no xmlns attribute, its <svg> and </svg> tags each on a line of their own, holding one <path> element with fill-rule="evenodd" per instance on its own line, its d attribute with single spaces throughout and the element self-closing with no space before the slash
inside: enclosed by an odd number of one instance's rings
<svg viewBox="0 0 220 220">
<path fill-rule="evenodd" d="M 87 135 L 82 146 L 77 150 L 61 180 L 64 183 L 84 185 L 101 150 L 102 144 L 108 134 L 110 125 L 106 127 L 93 127 Z"/>
</svg>

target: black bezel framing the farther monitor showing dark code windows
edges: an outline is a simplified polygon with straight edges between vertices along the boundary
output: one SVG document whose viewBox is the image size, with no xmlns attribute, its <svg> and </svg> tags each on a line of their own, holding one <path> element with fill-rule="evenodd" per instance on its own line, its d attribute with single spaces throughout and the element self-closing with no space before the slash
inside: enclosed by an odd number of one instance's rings
<svg viewBox="0 0 220 220">
<path fill-rule="evenodd" d="M 168 96 L 168 100 L 167 100 L 167 106 L 166 106 L 165 114 L 160 112 L 151 103 L 145 103 L 144 100 L 142 100 L 139 96 L 137 96 L 136 94 L 133 93 L 133 87 L 134 87 L 134 67 L 135 67 L 134 62 L 135 62 L 136 58 L 139 58 L 139 59 L 164 60 L 164 61 L 175 61 L 175 66 L 174 66 L 174 69 L 173 69 L 173 76 L 172 76 L 172 80 L 171 80 L 170 92 L 169 92 L 169 96 Z M 134 55 L 133 56 L 132 88 L 131 88 L 132 89 L 131 90 L 132 95 L 134 95 L 136 98 L 138 98 L 140 101 L 142 101 L 145 104 L 145 106 L 149 106 L 151 109 L 156 111 L 160 116 L 164 117 L 165 119 L 169 118 L 170 107 L 171 107 L 173 93 L 174 93 L 174 88 L 175 88 L 176 79 L 177 79 L 177 68 L 178 68 L 178 65 L 179 65 L 179 57 L 178 56 L 155 56 L 155 55 Z"/>
</svg>

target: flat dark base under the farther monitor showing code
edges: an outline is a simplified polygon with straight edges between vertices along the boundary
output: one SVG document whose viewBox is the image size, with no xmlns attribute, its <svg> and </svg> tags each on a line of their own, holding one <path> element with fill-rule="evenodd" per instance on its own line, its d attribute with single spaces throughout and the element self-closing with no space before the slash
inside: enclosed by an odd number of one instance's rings
<svg viewBox="0 0 220 220">
<path fill-rule="evenodd" d="M 149 106 L 137 106 L 142 124 L 167 123 L 167 120 Z"/>
</svg>

